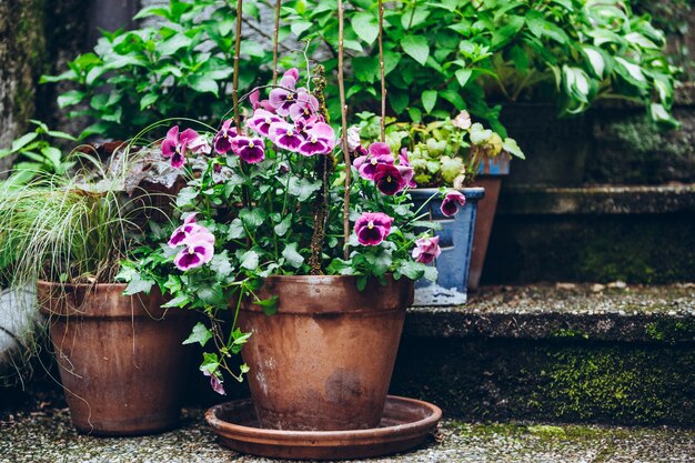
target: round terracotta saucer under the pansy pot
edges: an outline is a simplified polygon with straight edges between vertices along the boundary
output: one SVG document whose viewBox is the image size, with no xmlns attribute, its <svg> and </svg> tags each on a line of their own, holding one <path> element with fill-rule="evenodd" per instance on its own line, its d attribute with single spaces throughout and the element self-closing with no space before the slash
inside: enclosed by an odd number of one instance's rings
<svg viewBox="0 0 695 463">
<path fill-rule="evenodd" d="M 261 429 L 250 399 L 208 410 L 205 420 L 222 444 L 242 453 L 274 459 L 341 460 L 380 456 L 422 444 L 442 417 L 427 402 L 389 395 L 379 427 L 355 431 Z"/>
</svg>

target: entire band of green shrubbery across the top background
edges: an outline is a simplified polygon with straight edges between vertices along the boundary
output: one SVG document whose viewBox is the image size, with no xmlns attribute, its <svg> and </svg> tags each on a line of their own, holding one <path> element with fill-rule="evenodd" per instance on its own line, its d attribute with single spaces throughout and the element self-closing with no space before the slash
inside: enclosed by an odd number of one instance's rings
<svg viewBox="0 0 695 463">
<path fill-rule="evenodd" d="M 380 78 L 375 0 L 350 1 L 345 11 L 348 98 L 351 110 L 376 111 Z M 677 69 L 664 56 L 664 34 L 631 2 L 447 0 L 389 4 L 384 24 L 384 67 L 390 111 L 419 122 L 461 110 L 488 121 L 503 138 L 503 101 L 554 101 L 561 115 L 587 110 L 600 99 L 644 104 L 653 120 L 671 117 Z M 306 53 L 338 50 L 335 3 L 283 2 L 280 48 L 285 39 L 310 41 Z M 244 18 L 260 20 L 248 3 Z M 230 2 L 170 0 L 143 9 L 138 19 L 157 26 L 104 32 L 93 52 L 78 57 L 60 76 L 75 90 L 59 97 L 71 115 L 91 115 L 98 133 L 123 139 L 163 118 L 221 119 L 231 93 L 235 11 Z M 265 20 L 265 19 L 264 19 Z M 261 24 L 271 30 L 270 24 Z M 248 23 L 244 30 L 248 31 Z M 242 41 L 240 90 L 270 80 L 270 43 Z M 301 64 L 302 53 L 282 58 Z M 328 73 L 336 59 L 323 60 Z M 326 89 L 332 119 L 340 119 L 338 91 Z"/>
</svg>

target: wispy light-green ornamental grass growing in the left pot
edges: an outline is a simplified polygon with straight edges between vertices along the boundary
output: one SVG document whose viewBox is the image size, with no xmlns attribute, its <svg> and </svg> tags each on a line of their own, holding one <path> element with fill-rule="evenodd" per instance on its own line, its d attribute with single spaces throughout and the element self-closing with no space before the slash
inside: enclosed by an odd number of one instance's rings
<svg viewBox="0 0 695 463">
<path fill-rule="evenodd" d="M 89 155 L 72 177 L 41 174 L 0 184 L 0 278 L 16 286 L 37 279 L 110 283 L 129 255 L 140 202 L 123 199 L 127 157 L 108 171 Z M 149 285 L 151 286 L 151 284 Z M 147 282 L 131 290 L 149 291 Z"/>
</svg>

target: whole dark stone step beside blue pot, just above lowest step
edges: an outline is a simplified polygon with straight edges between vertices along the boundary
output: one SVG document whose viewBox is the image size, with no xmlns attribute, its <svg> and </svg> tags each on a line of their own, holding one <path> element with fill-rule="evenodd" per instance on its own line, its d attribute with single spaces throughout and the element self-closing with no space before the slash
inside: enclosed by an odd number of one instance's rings
<svg viewBox="0 0 695 463">
<path fill-rule="evenodd" d="M 503 185 L 483 284 L 695 280 L 695 184 Z"/>
</svg>

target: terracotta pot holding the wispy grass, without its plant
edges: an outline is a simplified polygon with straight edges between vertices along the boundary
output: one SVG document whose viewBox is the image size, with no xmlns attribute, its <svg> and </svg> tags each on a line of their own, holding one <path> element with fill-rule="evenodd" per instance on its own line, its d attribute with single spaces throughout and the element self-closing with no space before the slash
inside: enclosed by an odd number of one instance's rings
<svg viewBox="0 0 695 463">
<path fill-rule="evenodd" d="M 137 435 L 174 427 L 192 326 L 161 309 L 161 293 L 125 296 L 125 284 L 38 282 L 72 424 L 79 432 Z"/>
</svg>

